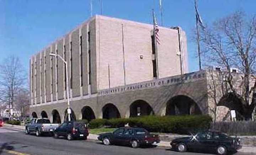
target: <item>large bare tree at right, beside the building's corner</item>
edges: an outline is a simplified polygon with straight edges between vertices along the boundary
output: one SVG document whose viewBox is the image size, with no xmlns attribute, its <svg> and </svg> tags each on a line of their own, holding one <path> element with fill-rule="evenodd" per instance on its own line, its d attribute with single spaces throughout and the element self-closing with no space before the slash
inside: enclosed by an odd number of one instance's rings
<svg viewBox="0 0 256 155">
<path fill-rule="evenodd" d="M 244 118 L 251 119 L 256 104 L 256 16 L 248 18 L 243 12 L 235 12 L 206 26 L 200 40 L 204 61 L 225 68 L 229 93 L 239 98 Z M 233 67 L 240 71 L 242 93 L 237 92 Z"/>
</svg>

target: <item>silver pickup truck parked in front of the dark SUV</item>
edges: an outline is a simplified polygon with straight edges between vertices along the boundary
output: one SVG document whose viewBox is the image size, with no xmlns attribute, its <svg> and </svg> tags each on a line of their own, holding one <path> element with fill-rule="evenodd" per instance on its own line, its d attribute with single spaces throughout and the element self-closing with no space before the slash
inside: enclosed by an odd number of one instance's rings
<svg viewBox="0 0 256 155">
<path fill-rule="evenodd" d="M 47 133 L 53 135 L 54 129 L 58 126 L 59 124 L 57 123 L 50 123 L 48 118 L 33 118 L 29 123 L 26 124 L 26 134 L 36 132 L 36 136 Z"/>
</svg>

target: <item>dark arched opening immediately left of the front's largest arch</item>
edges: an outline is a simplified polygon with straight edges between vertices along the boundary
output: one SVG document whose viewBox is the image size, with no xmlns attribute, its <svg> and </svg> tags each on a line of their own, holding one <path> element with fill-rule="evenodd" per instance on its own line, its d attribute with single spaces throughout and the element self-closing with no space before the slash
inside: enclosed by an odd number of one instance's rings
<svg viewBox="0 0 256 155">
<path fill-rule="evenodd" d="M 152 107 L 144 100 L 134 101 L 130 105 L 130 117 L 154 115 Z"/>
</svg>

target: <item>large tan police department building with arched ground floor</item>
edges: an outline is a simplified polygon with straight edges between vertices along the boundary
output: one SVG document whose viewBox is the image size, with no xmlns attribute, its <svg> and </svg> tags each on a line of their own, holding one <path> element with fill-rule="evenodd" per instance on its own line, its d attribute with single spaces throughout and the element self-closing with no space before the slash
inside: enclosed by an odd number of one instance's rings
<svg viewBox="0 0 256 155">
<path fill-rule="evenodd" d="M 63 122 L 67 80 L 73 119 L 210 114 L 208 72 L 188 73 L 185 32 L 159 35 L 156 50 L 153 25 L 90 18 L 31 57 L 31 115 Z"/>
</svg>

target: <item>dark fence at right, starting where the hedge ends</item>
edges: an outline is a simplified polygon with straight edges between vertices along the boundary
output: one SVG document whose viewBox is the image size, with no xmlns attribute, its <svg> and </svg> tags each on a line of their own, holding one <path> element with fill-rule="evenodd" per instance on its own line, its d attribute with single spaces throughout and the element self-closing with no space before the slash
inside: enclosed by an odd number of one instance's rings
<svg viewBox="0 0 256 155">
<path fill-rule="evenodd" d="M 213 122 L 210 129 L 230 135 L 256 135 L 256 121 Z"/>
</svg>

